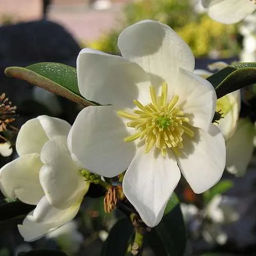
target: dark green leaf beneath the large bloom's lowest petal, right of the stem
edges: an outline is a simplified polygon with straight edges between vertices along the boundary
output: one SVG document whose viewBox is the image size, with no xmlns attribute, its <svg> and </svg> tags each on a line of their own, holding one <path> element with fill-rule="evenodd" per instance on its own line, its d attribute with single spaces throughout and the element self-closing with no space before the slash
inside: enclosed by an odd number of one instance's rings
<svg viewBox="0 0 256 256">
<path fill-rule="evenodd" d="M 181 256 L 186 248 L 186 230 L 180 205 L 167 212 L 146 235 L 153 251 L 161 256 Z"/>
</svg>

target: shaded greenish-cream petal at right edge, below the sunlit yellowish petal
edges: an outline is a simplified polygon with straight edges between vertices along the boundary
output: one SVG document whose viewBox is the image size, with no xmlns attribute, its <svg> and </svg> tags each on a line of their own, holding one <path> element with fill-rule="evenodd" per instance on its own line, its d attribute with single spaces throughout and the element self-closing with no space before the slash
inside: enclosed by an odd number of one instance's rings
<svg viewBox="0 0 256 256">
<path fill-rule="evenodd" d="M 246 118 L 238 121 L 236 132 L 227 140 L 226 169 L 232 174 L 243 176 L 253 152 L 254 125 Z"/>
</svg>

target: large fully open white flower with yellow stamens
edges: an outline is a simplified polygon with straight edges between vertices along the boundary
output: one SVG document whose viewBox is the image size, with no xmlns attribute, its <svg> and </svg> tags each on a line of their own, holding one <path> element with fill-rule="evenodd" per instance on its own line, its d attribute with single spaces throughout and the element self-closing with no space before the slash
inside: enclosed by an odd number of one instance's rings
<svg viewBox="0 0 256 256">
<path fill-rule="evenodd" d="M 113 177 L 126 170 L 124 194 L 153 227 L 180 172 L 195 193 L 222 176 L 225 141 L 211 123 L 216 93 L 193 74 L 193 54 L 166 25 L 136 23 L 119 35 L 118 46 L 123 57 L 92 49 L 79 53 L 79 91 L 104 106 L 78 114 L 68 145 L 91 172 Z"/>
</svg>

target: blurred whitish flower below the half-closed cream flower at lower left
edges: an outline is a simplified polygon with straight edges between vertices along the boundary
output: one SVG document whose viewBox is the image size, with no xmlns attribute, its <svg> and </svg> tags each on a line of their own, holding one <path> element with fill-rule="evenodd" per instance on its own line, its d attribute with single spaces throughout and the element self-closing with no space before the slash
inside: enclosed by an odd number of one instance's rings
<svg viewBox="0 0 256 256">
<path fill-rule="evenodd" d="M 83 242 L 83 236 L 77 229 L 77 223 L 70 221 L 48 233 L 46 238 L 56 240 L 61 250 L 74 254 L 78 252 Z"/>
</svg>

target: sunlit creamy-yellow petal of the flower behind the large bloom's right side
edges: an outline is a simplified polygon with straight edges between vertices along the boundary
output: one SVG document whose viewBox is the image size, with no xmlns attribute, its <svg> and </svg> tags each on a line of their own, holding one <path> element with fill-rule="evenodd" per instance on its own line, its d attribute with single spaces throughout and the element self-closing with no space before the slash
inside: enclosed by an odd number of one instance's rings
<svg viewBox="0 0 256 256">
<path fill-rule="evenodd" d="M 240 91 L 229 93 L 217 100 L 216 111 L 223 113 L 223 117 L 216 124 L 221 130 L 225 140 L 230 138 L 236 131 L 240 113 Z M 225 111 L 225 105 L 227 111 Z M 223 107 L 223 109 L 222 109 Z"/>
</svg>

